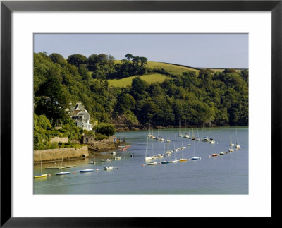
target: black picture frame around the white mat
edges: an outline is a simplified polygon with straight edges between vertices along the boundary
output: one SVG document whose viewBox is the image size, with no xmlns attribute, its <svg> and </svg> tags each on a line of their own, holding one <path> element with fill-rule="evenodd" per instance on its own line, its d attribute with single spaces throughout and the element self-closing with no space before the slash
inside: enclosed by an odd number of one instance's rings
<svg viewBox="0 0 282 228">
<path fill-rule="evenodd" d="M 281 194 L 282 2 L 278 1 L 1 1 L 1 227 L 165 227 L 172 217 L 11 217 L 11 13 L 13 11 L 270 11 L 271 217 L 279 220 Z M 263 89 L 263 88 L 262 88 Z M 263 108 L 263 105 L 262 105 Z M 269 136 L 266 136 L 269 137 Z M 187 205 L 189 206 L 189 205 Z M 28 206 L 27 206 L 28 207 Z M 130 210 L 130 208 L 128 208 Z M 220 215 L 219 215 L 220 216 Z M 197 218 L 195 218 L 197 219 Z M 216 219 L 216 218 L 214 218 Z M 231 220 L 234 218 L 230 217 Z M 184 220 L 184 221 L 183 221 Z M 187 222 L 178 218 L 177 224 Z M 233 223 L 235 224 L 235 223 Z M 238 223 L 240 224 L 240 222 Z M 226 224 L 228 225 L 228 224 Z M 241 224 L 242 225 L 242 224 Z"/>
</svg>

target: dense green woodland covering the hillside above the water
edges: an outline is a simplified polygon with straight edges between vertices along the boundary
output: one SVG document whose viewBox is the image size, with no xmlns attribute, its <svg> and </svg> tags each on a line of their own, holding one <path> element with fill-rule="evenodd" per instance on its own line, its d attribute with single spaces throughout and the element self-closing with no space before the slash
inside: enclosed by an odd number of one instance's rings
<svg viewBox="0 0 282 228">
<path fill-rule="evenodd" d="M 149 84 L 142 80 L 149 73 L 168 78 Z M 107 80 L 129 76 L 137 76 L 131 86 L 109 88 Z M 68 128 L 64 133 L 75 138 L 80 131 L 65 109 L 78 100 L 90 113 L 92 124 L 95 120 L 114 123 L 118 116 L 125 116 L 133 124 L 150 121 L 178 126 L 185 120 L 188 125 L 205 121 L 216 126 L 247 126 L 248 71 L 202 69 L 174 74 L 149 68 L 146 57 L 132 54 L 115 61 L 107 54 L 73 54 L 64 59 L 61 54 L 35 53 L 34 109 L 36 119 L 47 119 L 44 131 L 51 131 L 59 120 Z"/>
</svg>

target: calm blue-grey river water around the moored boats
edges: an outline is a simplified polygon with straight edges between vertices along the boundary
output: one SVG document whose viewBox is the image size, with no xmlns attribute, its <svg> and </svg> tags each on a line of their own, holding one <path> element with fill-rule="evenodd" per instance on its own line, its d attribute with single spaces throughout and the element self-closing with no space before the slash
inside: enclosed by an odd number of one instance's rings
<svg viewBox="0 0 282 228">
<path fill-rule="evenodd" d="M 241 150 L 235 150 L 218 157 L 209 157 L 213 152 L 227 152 L 230 143 L 237 140 Z M 188 131 L 188 129 L 186 129 Z M 188 138 L 178 137 L 178 128 L 159 131 L 159 136 L 170 138 L 168 148 L 185 150 L 173 152 L 171 156 L 155 160 L 157 165 L 147 165 L 144 161 L 148 131 L 128 131 L 116 133 L 125 138 L 130 148 L 121 152 L 116 150 L 116 157 L 121 160 L 101 162 L 101 158 L 113 157 L 109 152 L 102 152 L 100 157 L 87 160 L 71 160 L 63 164 L 76 164 L 77 167 L 63 169 L 71 172 L 69 175 L 56 176 L 59 170 L 47 170 L 54 163 L 42 164 L 44 174 L 51 174 L 44 179 L 34 180 L 35 194 L 247 194 L 248 193 L 248 128 L 205 128 L 205 135 L 214 138 L 214 145 L 195 142 Z M 184 131 L 183 131 L 184 132 Z M 194 129 L 195 136 L 197 131 Z M 198 129 L 202 137 L 202 128 Z M 154 132 L 156 136 L 157 130 Z M 192 135 L 192 130 L 190 129 Z M 188 147 L 187 144 L 191 146 Z M 147 155 L 164 154 L 167 143 L 149 140 Z M 201 157 L 201 160 L 159 164 L 163 160 L 173 160 L 180 157 Z M 130 157 L 134 154 L 135 157 Z M 96 164 L 88 164 L 88 161 Z M 61 164 L 57 162 L 56 165 Z M 94 169 L 94 172 L 82 174 L 80 169 Z M 145 164 L 144 166 L 142 164 Z M 114 166 L 105 171 L 104 166 Z M 40 164 L 35 165 L 35 175 L 40 174 Z M 118 168 L 118 169 L 117 169 Z M 97 171 L 99 169 L 99 171 Z M 76 172 L 76 173 L 74 173 Z"/>
</svg>

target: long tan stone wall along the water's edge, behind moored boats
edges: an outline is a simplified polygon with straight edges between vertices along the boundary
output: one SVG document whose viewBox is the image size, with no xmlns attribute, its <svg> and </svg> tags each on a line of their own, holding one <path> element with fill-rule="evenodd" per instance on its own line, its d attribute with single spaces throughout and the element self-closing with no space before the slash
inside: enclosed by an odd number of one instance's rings
<svg viewBox="0 0 282 228">
<path fill-rule="evenodd" d="M 63 160 L 78 158 L 78 157 L 89 157 L 87 146 L 82 148 L 59 148 L 59 149 L 49 149 L 49 150 L 34 150 L 33 152 L 33 162 L 40 162 L 40 152 L 42 157 L 42 162 L 61 160 L 63 154 Z"/>
</svg>

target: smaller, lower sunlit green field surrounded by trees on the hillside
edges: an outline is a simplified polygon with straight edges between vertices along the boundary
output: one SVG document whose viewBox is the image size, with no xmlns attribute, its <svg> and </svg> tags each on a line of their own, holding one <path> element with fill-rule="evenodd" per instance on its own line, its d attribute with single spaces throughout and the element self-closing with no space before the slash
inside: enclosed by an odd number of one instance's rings
<svg viewBox="0 0 282 228">
<path fill-rule="evenodd" d="M 128 85 L 131 85 L 132 80 L 135 77 L 137 77 L 137 76 L 131 76 L 131 77 L 122 78 L 122 79 L 111 79 L 111 80 L 108 80 L 109 87 L 110 86 L 113 86 L 113 87 L 125 87 L 125 86 L 128 86 Z M 142 78 L 142 80 L 145 80 L 147 83 L 151 84 L 151 83 L 155 83 L 155 82 L 162 83 L 168 77 L 163 75 L 163 74 L 160 74 L 160 73 L 152 73 L 152 74 L 147 74 L 147 75 L 140 76 L 140 78 Z"/>
</svg>

